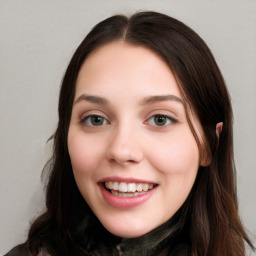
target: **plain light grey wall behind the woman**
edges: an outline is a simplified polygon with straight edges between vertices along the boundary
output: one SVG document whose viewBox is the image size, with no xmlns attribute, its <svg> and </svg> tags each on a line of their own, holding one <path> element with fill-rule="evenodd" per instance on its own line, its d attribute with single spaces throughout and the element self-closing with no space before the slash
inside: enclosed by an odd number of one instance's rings
<svg viewBox="0 0 256 256">
<path fill-rule="evenodd" d="M 46 141 L 74 50 L 102 19 L 141 10 L 193 28 L 223 72 L 234 109 L 240 215 L 255 242 L 255 0 L 0 0 L 0 254 L 25 240 L 44 208 L 40 175 L 52 150 Z"/>
</svg>

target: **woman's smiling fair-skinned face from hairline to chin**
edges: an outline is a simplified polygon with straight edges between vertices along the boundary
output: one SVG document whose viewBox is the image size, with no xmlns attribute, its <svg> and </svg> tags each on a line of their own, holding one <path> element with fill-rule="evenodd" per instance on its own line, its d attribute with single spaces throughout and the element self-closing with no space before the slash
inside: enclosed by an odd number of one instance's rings
<svg viewBox="0 0 256 256">
<path fill-rule="evenodd" d="M 102 46 L 81 67 L 68 150 L 85 201 L 108 231 L 126 238 L 169 220 L 200 164 L 169 67 L 151 50 L 123 42 Z"/>
</svg>

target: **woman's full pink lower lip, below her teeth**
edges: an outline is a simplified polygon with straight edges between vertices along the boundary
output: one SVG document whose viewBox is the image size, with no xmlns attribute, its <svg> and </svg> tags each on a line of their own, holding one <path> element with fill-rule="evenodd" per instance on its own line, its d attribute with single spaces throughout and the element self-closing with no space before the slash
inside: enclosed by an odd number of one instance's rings
<svg viewBox="0 0 256 256">
<path fill-rule="evenodd" d="M 111 194 L 107 191 L 103 185 L 103 183 L 99 183 L 99 187 L 102 193 L 103 198 L 105 201 L 115 208 L 131 208 L 143 204 L 147 200 L 151 198 L 151 196 L 155 193 L 157 187 L 151 189 L 150 191 L 146 192 L 140 196 L 134 197 L 119 197 Z"/>
</svg>

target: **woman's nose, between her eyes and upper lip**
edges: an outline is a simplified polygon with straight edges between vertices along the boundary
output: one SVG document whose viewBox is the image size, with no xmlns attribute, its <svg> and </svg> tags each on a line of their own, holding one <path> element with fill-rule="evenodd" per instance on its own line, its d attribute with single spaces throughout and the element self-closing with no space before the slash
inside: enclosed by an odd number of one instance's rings
<svg viewBox="0 0 256 256">
<path fill-rule="evenodd" d="M 107 150 L 107 159 L 120 165 L 129 165 L 142 161 L 143 150 L 133 129 L 120 128 L 113 130 Z"/>
</svg>

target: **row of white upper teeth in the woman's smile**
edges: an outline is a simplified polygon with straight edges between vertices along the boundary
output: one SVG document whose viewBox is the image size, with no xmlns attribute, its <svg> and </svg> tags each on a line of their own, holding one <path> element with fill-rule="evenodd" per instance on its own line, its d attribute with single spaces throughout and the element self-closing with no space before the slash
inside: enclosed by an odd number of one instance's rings
<svg viewBox="0 0 256 256">
<path fill-rule="evenodd" d="M 105 187 L 107 189 L 113 189 L 120 192 L 141 192 L 148 191 L 153 188 L 153 184 L 149 183 L 126 183 L 126 182 L 116 182 L 116 181 L 106 181 Z"/>
</svg>

